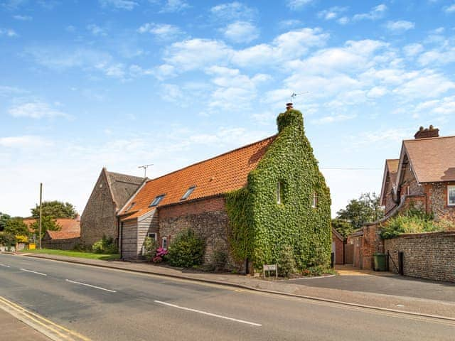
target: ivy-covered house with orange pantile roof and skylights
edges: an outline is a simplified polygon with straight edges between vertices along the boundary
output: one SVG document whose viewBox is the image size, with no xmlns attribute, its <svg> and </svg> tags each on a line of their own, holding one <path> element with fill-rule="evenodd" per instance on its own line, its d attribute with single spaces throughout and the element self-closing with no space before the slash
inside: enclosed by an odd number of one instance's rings
<svg viewBox="0 0 455 341">
<path fill-rule="evenodd" d="M 245 271 L 277 261 L 291 247 L 298 266 L 330 264 L 330 193 L 304 134 L 287 107 L 278 134 L 146 180 L 119 212 L 123 259 L 141 257 L 146 237 L 165 249 L 191 228 Z"/>
</svg>

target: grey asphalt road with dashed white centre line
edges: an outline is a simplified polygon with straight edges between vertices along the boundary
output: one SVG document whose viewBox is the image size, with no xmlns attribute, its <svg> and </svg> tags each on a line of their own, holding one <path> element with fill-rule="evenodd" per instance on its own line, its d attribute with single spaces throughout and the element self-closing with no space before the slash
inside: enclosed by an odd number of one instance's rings
<svg viewBox="0 0 455 341">
<path fill-rule="evenodd" d="M 92 340 L 415 341 L 455 335 L 455 323 L 441 320 L 6 254 L 0 254 L 0 296 Z"/>
</svg>

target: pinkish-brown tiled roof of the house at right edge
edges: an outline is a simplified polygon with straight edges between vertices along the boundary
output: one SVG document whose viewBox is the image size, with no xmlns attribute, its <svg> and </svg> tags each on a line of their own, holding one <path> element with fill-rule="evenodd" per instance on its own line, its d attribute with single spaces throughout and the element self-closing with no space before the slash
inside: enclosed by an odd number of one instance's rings
<svg viewBox="0 0 455 341">
<path fill-rule="evenodd" d="M 455 136 L 403 141 L 419 183 L 455 181 Z"/>
</svg>

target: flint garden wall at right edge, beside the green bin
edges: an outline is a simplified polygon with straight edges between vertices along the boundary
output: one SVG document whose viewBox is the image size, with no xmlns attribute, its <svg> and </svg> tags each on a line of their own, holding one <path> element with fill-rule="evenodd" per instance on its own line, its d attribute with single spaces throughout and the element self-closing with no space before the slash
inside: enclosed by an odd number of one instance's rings
<svg viewBox="0 0 455 341">
<path fill-rule="evenodd" d="M 455 232 L 403 234 L 384 244 L 397 266 L 398 252 L 404 252 L 405 276 L 455 282 Z M 392 261 L 389 268 L 397 272 Z"/>
</svg>

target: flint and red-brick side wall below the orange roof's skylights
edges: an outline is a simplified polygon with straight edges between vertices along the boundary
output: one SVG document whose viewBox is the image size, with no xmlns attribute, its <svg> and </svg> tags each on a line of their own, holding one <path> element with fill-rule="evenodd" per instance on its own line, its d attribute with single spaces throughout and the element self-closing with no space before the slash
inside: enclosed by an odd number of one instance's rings
<svg viewBox="0 0 455 341">
<path fill-rule="evenodd" d="M 167 237 L 168 244 L 172 245 L 179 232 L 191 228 L 205 239 L 204 263 L 213 261 L 215 251 L 229 256 L 229 218 L 224 207 L 224 197 L 213 197 L 159 209 L 160 241 Z"/>
</svg>

